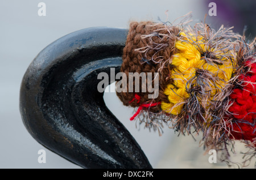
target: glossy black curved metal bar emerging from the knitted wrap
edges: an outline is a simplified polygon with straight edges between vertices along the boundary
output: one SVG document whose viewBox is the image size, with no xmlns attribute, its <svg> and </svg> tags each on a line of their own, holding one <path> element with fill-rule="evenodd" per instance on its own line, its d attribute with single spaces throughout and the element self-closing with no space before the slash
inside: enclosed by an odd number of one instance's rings
<svg viewBox="0 0 256 180">
<path fill-rule="evenodd" d="M 99 27 L 61 37 L 36 56 L 22 80 L 20 113 L 28 132 L 83 168 L 152 168 L 97 91 L 99 72 L 119 72 L 126 36 L 126 29 Z"/>
</svg>

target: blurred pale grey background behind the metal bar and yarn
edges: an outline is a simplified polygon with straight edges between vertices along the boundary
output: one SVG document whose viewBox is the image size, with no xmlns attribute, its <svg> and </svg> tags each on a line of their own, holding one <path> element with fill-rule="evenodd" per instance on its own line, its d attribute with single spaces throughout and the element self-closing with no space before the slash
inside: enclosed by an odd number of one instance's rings
<svg viewBox="0 0 256 180">
<path fill-rule="evenodd" d="M 38 3 L 46 3 L 46 16 L 38 15 Z M 222 23 L 235 25 L 234 31 L 255 36 L 254 1 L 203 0 L 24 0 L 0 1 L 0 168 L 80 168 L 36 142 L 23 126 L 19 113 L 19 88 L 27 67 L 36 55 L 51 42 L 79 29 L 98 26 L 128 28 L 131 20 L 158 18 L 173 22 L 192 11 L 195 22 L 204 22 L 209 2 L 216 2 L 217 16 L 207 16 L 212 28 Z M 238 19 L 237 19 L 238 17 Z M 112 84 L 113 85 L 113 84 Z M 210 164 L 203 147 L 191 136 L 177 136 L 164 127 L 158 132 L 135 127 L 127 108 L 115 93 L 105 93 L 109 109 L 127 127 L 153 168 L 227 168 L 226 164 Z M 242 147 L 240 145 L 240 147 Z M 38 151 L 46 150 L 46 163 L 39 164 Z M 238 148 L 238 152 L 239 152 Z M 239 156 L 239 155 L 237 155 Z"/>
</svg>

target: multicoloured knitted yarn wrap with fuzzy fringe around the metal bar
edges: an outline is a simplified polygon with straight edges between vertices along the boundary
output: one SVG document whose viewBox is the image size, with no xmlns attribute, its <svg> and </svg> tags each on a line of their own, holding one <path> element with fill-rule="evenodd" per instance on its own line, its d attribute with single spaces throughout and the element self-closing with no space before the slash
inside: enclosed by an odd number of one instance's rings
<svg viewBox="0 0 256 180">
<path fill-rule="evenodd" d="M 117 92 L 124 105 L 138 108 L 131 120 L 154 128 L 166 122 L 182 134 L 200 132 L 207 150 L 224 151 L 242 140 L 255 154 L 255 40 L 248 44 L 223 25 L 214 31 L 204 23 L 192 28 L 131 22 L 121 72 L 159 73 L 156 98 L 141 88 Z"/>
</svg>

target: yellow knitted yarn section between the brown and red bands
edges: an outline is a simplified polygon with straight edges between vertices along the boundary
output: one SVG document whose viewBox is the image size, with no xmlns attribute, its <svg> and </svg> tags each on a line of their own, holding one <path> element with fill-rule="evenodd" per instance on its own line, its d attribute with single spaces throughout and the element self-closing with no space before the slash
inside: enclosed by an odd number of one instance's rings
<svg viewBox="0 0 256 180">
<path fill-rule="evenodd" d="M 233 73 L 233 59 L 223 58 L 224 53 L 229 53 L 225 48 L 222 51 L 215 50 L 217 59 L 221 59 L 221 63 L 207 62 L 205 59 L 201 59 L 201 53 L 199 49 L 209 51 L 206 48 L 203 37 L 195 37 L 193 35 L 185 35 L 184 32 L 180 33 L 184 41 L 176 41 L 175 48 L 177 53 L 172 56 L 171 65 L 174 65 L 170 72 L 171 78 L 174 80 L 172 84 L 168 84 L 166 89 L 164 89 L 164 94 L 168 96 L 170 103 L 162 102 L 161 108 L 164 112 L 178 115 L 183 109 L 185 100 L 189 97 L 187 89 L 188 85 L 195 83 L 196 81 L 196 71 L 207 70 L 212 76 L 217 80 L 210 81 L 210 87 L 207 90 L 210 92 L 207 99 L 200 99 L 201 105 L 207 108 L 210 105 L 210 101 L 214 100 L 214 95 L 221 92 L 226 82 L 231 78 Z M 192 79 L 193 78 L 193 79 Z M 188 83 L 189 82 L 189 83 Z M 186 87 L 187 86 L 187 87 Z M 187 88 L 187 89 L 186 89 Z"/>
</svg>

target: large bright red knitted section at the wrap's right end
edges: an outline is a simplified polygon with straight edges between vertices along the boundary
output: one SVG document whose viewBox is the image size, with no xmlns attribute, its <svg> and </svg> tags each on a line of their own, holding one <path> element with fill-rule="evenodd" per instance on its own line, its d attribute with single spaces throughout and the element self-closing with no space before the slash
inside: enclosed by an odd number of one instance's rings
<svg viewBox="0 0 256 180">
<path fill-rule="evenodd" d="M 240 76 L 243 81 L 242 89 L 233 89 L 230 98 L 233 104 L 229 108 L 229 112 L 233 113 L 233 121 L 231 129 L 232 136 L 237 140 L 254 141 L 256 138 L 256 63 L 251 63 L 251 60 L 246 61 L 245 65 L 250 70 Z"/>
</svg>

